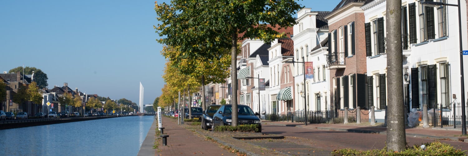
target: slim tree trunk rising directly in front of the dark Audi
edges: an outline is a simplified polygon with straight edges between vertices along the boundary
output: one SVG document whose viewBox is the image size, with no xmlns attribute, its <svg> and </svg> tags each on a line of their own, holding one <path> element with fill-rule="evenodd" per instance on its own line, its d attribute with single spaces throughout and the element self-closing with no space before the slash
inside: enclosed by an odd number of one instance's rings
<svg viewBox="0 0 468 156">
<path fill-rule="evenodd" d="M 237 126 L 237 32 L 231 41 L 231 83 L 232 83 L 232 126 Z"/>
</svg>

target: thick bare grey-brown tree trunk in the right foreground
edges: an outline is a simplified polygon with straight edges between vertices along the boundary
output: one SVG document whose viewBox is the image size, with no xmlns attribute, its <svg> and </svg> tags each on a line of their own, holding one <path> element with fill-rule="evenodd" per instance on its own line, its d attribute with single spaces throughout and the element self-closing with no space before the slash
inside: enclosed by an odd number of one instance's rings
<svg viewBox="0 0 468 156">
<path fill-rule="evenodd" d="M 402 0 L 387 0 L 387 72 L 388 117 L 387 150 L 402 151 L 406 146 L 403 67 L 402 67 Z"/>
</svg>

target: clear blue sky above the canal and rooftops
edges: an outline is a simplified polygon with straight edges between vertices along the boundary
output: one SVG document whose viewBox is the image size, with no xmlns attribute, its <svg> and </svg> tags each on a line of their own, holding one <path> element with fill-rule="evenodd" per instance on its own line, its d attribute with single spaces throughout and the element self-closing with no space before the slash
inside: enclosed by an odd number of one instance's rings
<svg viewBox="0 0 468 156">
<path fill-rule="evenodd" d="M 158 0 L 158 3 L 169 0 Z M 331 11 L 341 0 L 300 0 L 312 11 Z M 2 0 L 0 72 L 41 69 L 49 89 L 72 89 L 145 104 L 161 95 L 165 58 L 153 29 L 154 0 Z"/>
</svg>

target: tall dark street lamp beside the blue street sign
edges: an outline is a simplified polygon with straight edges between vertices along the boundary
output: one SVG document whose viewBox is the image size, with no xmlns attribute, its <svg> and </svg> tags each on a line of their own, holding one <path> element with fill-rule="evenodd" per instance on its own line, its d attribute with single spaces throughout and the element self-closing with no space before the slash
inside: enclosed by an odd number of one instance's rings
<svg viewBox="0 0 468 156">
<path fill-rule="evenodd" d="M 461 134 L 467 134 L 467 127 L 466 127 L 466 114 L 465 114 L 465 80 L 463 77 L 463 46 L 461 41 L 461 11 L 460 11 L 460 0 L 458 0 L 458 5 L 456 4 L 446 4 L 443 2 L 433 2 L 433 1 L 426 1 L 423 2 L 424 6 L 427 7 L 439 7 L 439 6 L 454 6 L 458 7 L 458 36 L 460 37 L 460 82 L 461 82 Z"/>
</svg>

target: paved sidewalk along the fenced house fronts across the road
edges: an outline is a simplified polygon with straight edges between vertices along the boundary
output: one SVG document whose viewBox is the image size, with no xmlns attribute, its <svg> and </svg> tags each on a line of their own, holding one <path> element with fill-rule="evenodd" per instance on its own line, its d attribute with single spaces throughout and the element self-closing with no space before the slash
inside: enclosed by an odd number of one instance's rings
<svg viewBox="0 0 468 156">
<path fill-rule="evenodd" d="M 333 130 L 341 132 L 354 132 L 354 133 L 369 133 L 369 134 L 387 134 L 387 127 L 383 126 L 383 123 L 376 123 L 376 125 L 371 126 L 369 123 L 363 123 L 356 125 L 356 123 L 349 124 L 308 124 L 307 126 L 304 123 L 297 122 L 285 122 L 285 121 L 267 121 L 262 120 L 263 124 L 271 124 L 277 126 L 297 126 L 310 129 L 320 129 L 320 130 Z M 453 141 L 464 141 L 468 142 L 468 137 L 466 136 L 457 136 L 461 135 L 461 128 L 453 127 L 430 127 L 422 128 L 415 127 L 409 128 L 406 127 L 406 136 L 413 136 L 419 138 L 431 138 L 431 139 L 449 139 Z"/>
</svg>

